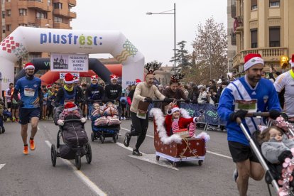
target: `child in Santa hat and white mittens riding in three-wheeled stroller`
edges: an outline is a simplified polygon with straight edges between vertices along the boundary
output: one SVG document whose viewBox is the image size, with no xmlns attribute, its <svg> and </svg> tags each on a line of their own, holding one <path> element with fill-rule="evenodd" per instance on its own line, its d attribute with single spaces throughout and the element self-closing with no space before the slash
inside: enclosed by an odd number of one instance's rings
<svg viewBox="0 0 294 196">
<path fill-rule="evenodd" d="M 83 124 L 86 122 L 85 117 L 82 117 L 82 115 L 80 114 L 77 105 L 72 102 L 67 102 L 65 104 L 65 108 L 58 116 L 58 125 L 63 126 L 65 119 L 67 119 L 67 116 L 72 116 L 72 119 L 80 119 Z"/>
</svg>

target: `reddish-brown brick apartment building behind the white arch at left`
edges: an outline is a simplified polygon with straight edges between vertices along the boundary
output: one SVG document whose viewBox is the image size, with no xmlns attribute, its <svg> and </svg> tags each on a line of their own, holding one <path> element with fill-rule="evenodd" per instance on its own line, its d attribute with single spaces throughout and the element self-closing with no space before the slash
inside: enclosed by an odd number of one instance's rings
<svg viewBox="0 0 294 196">
<path fill-rule="evenodd" d="M 76 4 L 76 0 L 1 0 L 1 40 L 18 26 L 71 29 L 70 21 L 77 14 L 70 9 Z M 48 53 L 28 53 L 16 62 L 14 72 L 19 72 L 24 62 L 46 57 Z"/>
</svg>

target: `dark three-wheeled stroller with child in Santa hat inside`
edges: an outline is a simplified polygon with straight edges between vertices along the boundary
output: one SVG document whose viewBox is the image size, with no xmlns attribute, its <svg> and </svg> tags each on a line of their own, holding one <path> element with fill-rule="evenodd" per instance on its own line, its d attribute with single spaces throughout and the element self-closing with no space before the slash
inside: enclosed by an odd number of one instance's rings
<svg viewBox="0 0 294 196">
<path fill-rule="evenodd" d="M 57 151 L 54 145 L 51 146 L 53 166 L 56 164 L 56 157 L 75 159 L 77 169 L 81 167 L 82 156 L 86 156 L 87 163 L 91 163 L 92 151 L 84 126 L 86 119 L 82 117 L 80 108 L 72 102 L 67 102 L 64 107 L 54 109 L 54 121 L 60 129 L 57 137 Z M 60 144 L 60 138 L 64 144 Z"/>
</svg>

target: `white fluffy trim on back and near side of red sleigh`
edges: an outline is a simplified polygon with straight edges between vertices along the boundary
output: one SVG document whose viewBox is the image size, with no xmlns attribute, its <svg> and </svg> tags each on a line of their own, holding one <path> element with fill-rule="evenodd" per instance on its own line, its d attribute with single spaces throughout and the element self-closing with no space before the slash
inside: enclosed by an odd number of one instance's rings
<svg viewBox="0 0 294 196">
<path fill-rule="evenodd" d="M 160 141 L 162 141 L 164 144 L 170 144 L 173 142 L 182 143 L 182 138 L 178 134 L 173 134 L 172 136 L 168 136 L 166 134 L 166 130 L 164 127 L 165 118 L 163 116 L 163 112 L 161 111 L 161 109 L 153 108 L 151 109 L 150 114 L 156 120 L 156 131 L 158 131 Z"/>
</svg>

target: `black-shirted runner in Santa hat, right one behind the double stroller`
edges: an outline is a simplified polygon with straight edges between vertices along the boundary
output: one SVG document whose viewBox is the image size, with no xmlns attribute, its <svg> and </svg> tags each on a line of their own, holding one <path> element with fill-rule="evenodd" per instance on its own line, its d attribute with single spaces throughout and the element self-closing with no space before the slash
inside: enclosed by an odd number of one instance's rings
<svg viewBox="0 0 294 196">
<path fill-rule="evenodd" d="M 110 75 L 110 81 L 111 83 L 105 86 L 104 97 L 118 103 L 116 107 L 119 111 L 119 120 L 121 120 L 121 102 L 119 102 L 119 99 L 121 99 L 122 87 L 117 83 L 116 75 Z"/>
</svg>

